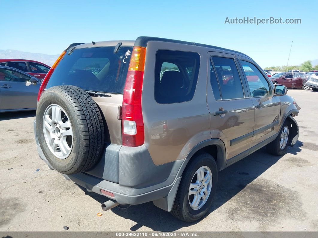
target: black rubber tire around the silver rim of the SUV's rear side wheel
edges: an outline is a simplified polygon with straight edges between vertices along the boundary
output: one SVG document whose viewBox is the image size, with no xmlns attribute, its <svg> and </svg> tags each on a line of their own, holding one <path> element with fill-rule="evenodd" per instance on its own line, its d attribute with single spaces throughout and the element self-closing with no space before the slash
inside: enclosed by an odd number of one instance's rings
<svg viewBox="0 0 318 238">
<path fill-rule="evenodd" d="M 195 175 L 197 170 L 201 167 L 209 168 L 211 171 L 212 181 L 210 184 L 211 185 L 210 193 L 207 196 L 207 200 L 205 201 L 205 203 L 202 204 L 202 207 L 198 209 L 192 209 L 190 206 L 191 197 L 189 197 L 190 183 L 193 182 L 192 180 L 195 179 L 195 176 L 197 176 Z M 206 176 L 206 174 L 204 174 L 204 176 Z M 217 184 L 218 184 L 218 169 L 217 169 L 217 165 L 215 163 L 214 158 L 208 153 L 195 154 L 191 158 L 185 170 L 183 171 L 182 179 L 180 181 L 180 185 L 176 194 L 174 205 L 171 210 L 171 214 L 174 215 L 176 218 L 182 221 L 187 221 L 187 222 L 194 222 L 202 218 L 211 207 L 212 200 L 217 188 Z M 204 190 L 201 190 L 201 189 L 200 191 L 202 191 L 203 193 Z M 208 189 L 208 186 L 206 189 Z M 200 203 L 201 203 L 201 199 L 200 199 Z"/>
</svg>

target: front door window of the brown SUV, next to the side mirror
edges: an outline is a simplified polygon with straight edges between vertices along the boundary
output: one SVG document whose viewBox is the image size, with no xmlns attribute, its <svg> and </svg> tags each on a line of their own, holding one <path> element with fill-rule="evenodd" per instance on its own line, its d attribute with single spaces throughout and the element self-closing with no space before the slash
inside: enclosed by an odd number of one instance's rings
<svg viewBox="0 0 318 238">
<path fill-rule="evenodd" d="M 248 87 L 252 97 L 261 97 L 271 95 L 269 84 L 262 73 L 250 62 L 240 60 L 243 72 L 246 75 Z"/>
</svg>

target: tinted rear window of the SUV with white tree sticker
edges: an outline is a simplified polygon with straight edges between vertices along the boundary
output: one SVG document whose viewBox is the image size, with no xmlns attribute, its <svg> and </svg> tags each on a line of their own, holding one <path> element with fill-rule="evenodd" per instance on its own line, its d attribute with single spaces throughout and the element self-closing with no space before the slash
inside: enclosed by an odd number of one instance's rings
<svg viewBox="0 0 318 238">
<path fill-rule="evenodd" d="M 46 86 L 74 85 L 84 90 L 123 93 L 132 46 L 114 46 L 67 51 Z"/>
</svg>

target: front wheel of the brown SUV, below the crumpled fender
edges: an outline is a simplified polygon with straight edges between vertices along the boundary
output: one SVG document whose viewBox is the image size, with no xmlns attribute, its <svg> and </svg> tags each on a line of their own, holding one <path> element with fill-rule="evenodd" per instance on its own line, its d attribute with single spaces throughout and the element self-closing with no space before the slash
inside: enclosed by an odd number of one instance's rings
<svg viewBox="0 0 318 238">
<path fill-rule="evenodd" d="M 290 142 L 290 128 L 290 123 L 286 120 L 276 139 L 266 145 L 268 153 L 273 155 L 283 155 L 286 153 Z"/>
</svg>

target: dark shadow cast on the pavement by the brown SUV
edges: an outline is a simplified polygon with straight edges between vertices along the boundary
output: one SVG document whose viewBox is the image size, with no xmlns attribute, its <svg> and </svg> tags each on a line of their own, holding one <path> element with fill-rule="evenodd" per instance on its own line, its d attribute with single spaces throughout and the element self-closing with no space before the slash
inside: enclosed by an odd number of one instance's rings
<svg viewBox="0 0 318 238">
<path fill-rule="evenodd" d="M 288 148 L 287 153 L 297 154 L 301 151 L 300 147 L 302 145 L 303 143 L 301 141 L 297 141 L 293 148 Z M 266 152 L 265 147 L 263 147 L 230 167 L 220 171 L 218 173 L 218 189 L 212 206 L 205 216 L 208 216 L 210 213 L 229 201 L 249 183 L 280 160 L 281 157 L 282 156 L 270 155 Z M 86 193 L 86 195 L 91 196 L 100 203 L 108 200 L 108 198 L 102 195 L 89 193 L 84 187 L 79 187 Z M 200 222 L 200 220 L 195 223 L 180 221 L 170 213 L 156 207 L 152 202 L 133 205 L 127 209 L 114 207 L 112 211 L 125 219 L 129 219 L 137 223 L 130 228 L 131 231 L 136 231 L 142 226 L 145 226 L 153 229 L 154 231 L 171 232 Z M 213 224 L 211 224 L 211 226 L 213 226 Z"/>
</svg>

